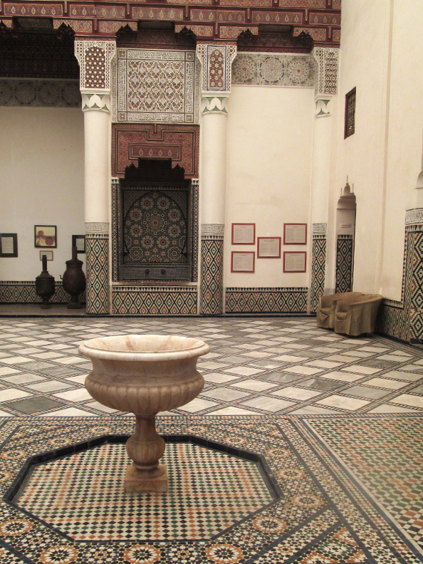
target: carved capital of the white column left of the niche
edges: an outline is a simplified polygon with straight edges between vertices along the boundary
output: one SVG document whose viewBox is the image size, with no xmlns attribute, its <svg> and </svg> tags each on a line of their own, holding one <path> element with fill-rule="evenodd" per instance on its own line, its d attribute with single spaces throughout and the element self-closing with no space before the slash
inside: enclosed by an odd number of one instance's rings
<svg viewBox="0 0 423 564">
<path fill-rule="evenodd" d="M 115 41 L 75 41 L 75 57 L 80 67 L 80 90 L 83 95 L 110 94 L 110 63 L 115 53 Z"/>
</svg>

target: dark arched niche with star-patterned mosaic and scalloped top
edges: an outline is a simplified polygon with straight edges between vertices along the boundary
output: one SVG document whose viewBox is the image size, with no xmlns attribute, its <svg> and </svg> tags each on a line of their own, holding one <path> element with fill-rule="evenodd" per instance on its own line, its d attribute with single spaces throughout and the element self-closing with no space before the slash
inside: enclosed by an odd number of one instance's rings
<svg viewBox="0 0 423 564">
<path fill-rule="evenodd" d="M 192 186 L 171 159 L 139 159 L 119 180 L 119 281 L 192 281 Z"/>
</svg>

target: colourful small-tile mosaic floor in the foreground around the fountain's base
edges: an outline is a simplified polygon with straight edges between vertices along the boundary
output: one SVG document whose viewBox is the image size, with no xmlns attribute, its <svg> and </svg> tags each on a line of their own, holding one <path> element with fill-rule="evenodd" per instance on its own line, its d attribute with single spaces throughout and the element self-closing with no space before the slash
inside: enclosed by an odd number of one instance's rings
<svg viewBox="0 0 423 564">
<path fill-rule="evenodd" d="M 216 451 L 203 445 L 195 451 L 198 445 L 192 443 L 167 444 L 172 468 L 168 494 L 122 494 L 113 484 L 122 483 L 119 473 L 127 459 L 122 445 L 110 443 L 41 462 L 33 467 L 33 483 L 30 480 L 14 494 L 9 487 L 28 454 L 57 453 L 72 442 L 102 435 L 127 435 L 134 421 L 114 416 L 6 419 L 0 426 L 3 560 L 27 564 L 423 561 L 422 417 L 189 416 L 159 417 L 157 424 L 162 434 L 191 434 L 222 445 L 219 448 L 248 447 L 266 460 L 278 496 L 268 496 L 269 490 L 258 485 L 262 480 L 258 473 L 240 474 L 238 467 L 235 474 L 221 472 Z M 1 439 L 6 437 L 4 444 Z M 187 446 L 189 453 L 184 451 Z M 412 467 L 404 464 L 409 459 L 415 461 Z M 192 472 L 184 474 L 190 464 L 202 469 L 204 479 L 197 476 L 196 482 Z M 43 474 L 42 479 L 36 479 L 37 473 Z M 65 475 L 67 480 L 62 479 Z M 190 489 L 197 492 L 192 502 Z M 8 490 L 10 501 L 5 501 Z M 43 503 L 48 496 L 54 496 L 52 502 Z M 244 501 L 251 504 L 246 511 Z M 230 522 L 232 526 L 221 526 Z M 217 533 L 216 526 L 221 526 Z"/>
</svg>

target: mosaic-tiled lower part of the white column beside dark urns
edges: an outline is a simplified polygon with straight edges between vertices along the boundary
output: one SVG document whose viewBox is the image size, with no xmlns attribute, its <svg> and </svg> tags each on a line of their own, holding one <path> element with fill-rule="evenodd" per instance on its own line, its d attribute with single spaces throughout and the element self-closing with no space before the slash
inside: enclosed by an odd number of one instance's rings
<svg viewBox="0 0 423 564">
<path fill-rule="evenodd" d="M 109 236 L 85 234 L 87 313 L 109 312 Z"/>
</svg>

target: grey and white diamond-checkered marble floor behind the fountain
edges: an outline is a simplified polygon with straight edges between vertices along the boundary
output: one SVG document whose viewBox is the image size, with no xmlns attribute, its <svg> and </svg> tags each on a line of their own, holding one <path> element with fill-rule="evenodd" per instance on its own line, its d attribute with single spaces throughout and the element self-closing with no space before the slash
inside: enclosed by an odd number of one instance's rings
<svg viewBox="0 0 423 564">
<path fill-rule="evenodd" d="M 172 414 L 422 414 L 423 350 L 348 338 L 313 318 L 3 318 L 0 416 L 122 415 L 84 387 L 83 340 L 177 334 L 210 345 L 202 393 Z M 169 414 L 169 413 L 164 413 Z"/>
</svg>

